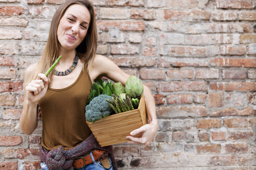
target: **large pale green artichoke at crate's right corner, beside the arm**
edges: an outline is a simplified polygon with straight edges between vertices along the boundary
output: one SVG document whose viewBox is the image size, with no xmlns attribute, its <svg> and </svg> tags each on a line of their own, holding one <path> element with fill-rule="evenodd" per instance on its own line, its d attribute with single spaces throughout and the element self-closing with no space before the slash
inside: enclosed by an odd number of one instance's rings
<svg viewBox="0 0 256 170">
<path fill-rule="evenodd" d="M 125 93 L 131 98 L 140 98 L 143 95 L 142 80 L 136 76 L 129 76 L 125 83 Z"/>
</svg>

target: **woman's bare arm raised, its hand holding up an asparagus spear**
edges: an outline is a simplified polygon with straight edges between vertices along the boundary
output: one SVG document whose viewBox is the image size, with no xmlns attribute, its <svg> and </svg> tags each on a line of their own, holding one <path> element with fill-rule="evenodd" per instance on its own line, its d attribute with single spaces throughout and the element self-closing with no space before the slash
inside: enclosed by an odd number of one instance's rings
<svg viewBox="0 0 256 170">
<path fill-rule="evenodd" d="M 27 68 L 24 79 L 24 84 L 28 84 L 28 86 L 24 88 L 24 104 L 20 116 L 20 129 L 27 135 L 31 135 L 37 127 L 37 104 L 45 95 L 48 87 L 48 79 L 44 74 L 39 74 L 36 80 L 28 83 L 35 67 L 36 64 L 33 64 Z M 45 83 L 43 83 L 42 79 Z"/>
</svg>

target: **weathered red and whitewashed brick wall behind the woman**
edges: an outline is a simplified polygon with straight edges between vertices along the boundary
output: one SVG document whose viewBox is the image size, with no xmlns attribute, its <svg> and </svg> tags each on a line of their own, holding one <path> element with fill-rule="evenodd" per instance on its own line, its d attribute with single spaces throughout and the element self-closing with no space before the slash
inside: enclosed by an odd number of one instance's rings
<svg viewBox="0 0 256 170">
<path fill-rule="evenodd" d="M 19 129 L 24 70 L 63 0 L 0 1 L 0 169 L 37 169 L 42 122 Z M 255 0 L 93 1 L 98 53 L 152 90 L 159 131 L 120 169 L 255 169 Z"/>
</svg>

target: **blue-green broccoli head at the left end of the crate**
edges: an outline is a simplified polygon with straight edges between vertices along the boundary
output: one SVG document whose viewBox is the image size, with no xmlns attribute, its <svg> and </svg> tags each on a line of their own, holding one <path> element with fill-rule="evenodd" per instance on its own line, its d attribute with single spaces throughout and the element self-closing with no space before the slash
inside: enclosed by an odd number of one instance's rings
<svg viewBox="0 0 256 170">
<path fill-rule="evenodd" d="M 93 98 L 93 100 L 85 107 L 86 121 L 94 123 L 111 114 L 113 110 L 106 99 L 111 100 L 111 96 L 100 94 Z"/>
</svg>

